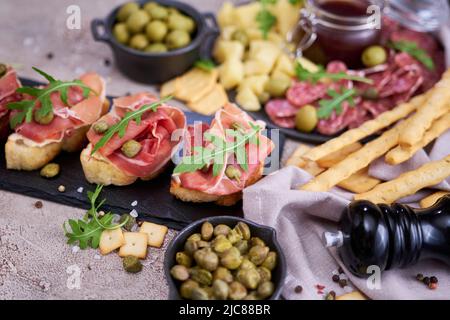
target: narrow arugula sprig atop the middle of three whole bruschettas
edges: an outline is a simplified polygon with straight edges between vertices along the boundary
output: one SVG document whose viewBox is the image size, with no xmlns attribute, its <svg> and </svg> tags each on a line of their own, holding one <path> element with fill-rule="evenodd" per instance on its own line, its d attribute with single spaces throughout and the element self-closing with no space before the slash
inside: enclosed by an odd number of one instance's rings
<svg viewBox="0 0 450 320">
<path fill-rule="evenodd" d="M 125 136 L 128 124 L 131 120 L 135 121 L 137 125 L 139 125 L 142 121 L 142 115 L 147 111 L 155 112 L 157 108 L 163 104 L 164 102 L 172 99 L 172 96 L 165 97 L 159 101 L 153 102 L 151 104 L 144 104 L 136 111 L 129 111 L 125 114 L 125 117 L 122 118 L 119 122 L 112 125 L 103 135 L 103 137 L 98 140 L 98 142 L 94 145 L 91 151 L 91 155 L 97 152 L 101 147 L 103 147 L 106 143 L 108 143 L 111 138 L 117 134 L 120 138 Z"/>
</svg>

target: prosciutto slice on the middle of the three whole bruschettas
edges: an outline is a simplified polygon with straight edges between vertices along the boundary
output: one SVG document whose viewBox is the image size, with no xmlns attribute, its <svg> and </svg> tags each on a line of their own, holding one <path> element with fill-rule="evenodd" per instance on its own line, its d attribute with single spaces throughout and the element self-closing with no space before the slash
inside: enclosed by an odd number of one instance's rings
<svg viewBox="0 0 450 320">
<path fill-rule="evenodd" d="M 112 111 L 99 121 L 105 121 L 111 126 L 121 121 L 127 112 L 138 110 L 143 105 L 156 101 L 157 99 L 148 93 L 114 99 Z M 128 175 L 145 178 L 168 163 L 183 138 L 185 127 L 184 113 L 163 104 L 156 111 L 144 113 L 139 124 L 130 121 L 122 138 L 117 134 L 114 135 L 98 152 Z M 103 135 L 97 134 L 91 128 L 87 137 L 91 144 L 95 145 Z M 131 139 L 140 142 L 142 149 L 136 157 L 127 158 L 120 149 Z"/>
</svg>

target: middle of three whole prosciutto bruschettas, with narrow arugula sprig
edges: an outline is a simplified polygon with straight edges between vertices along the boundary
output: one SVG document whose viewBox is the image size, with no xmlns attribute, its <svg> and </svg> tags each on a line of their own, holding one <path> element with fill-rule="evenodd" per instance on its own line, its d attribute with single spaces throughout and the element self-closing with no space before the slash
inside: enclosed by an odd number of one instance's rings
<svg viewBox="0 0 450 320">
<path fill-rule="evenodd" d="M 124 186 L 164 170 L 186 129 L 184 113 L 149 93 L 114 99 L 111 111 L 89 130 L 81 153 L 91 183 Z"/>
</svg>

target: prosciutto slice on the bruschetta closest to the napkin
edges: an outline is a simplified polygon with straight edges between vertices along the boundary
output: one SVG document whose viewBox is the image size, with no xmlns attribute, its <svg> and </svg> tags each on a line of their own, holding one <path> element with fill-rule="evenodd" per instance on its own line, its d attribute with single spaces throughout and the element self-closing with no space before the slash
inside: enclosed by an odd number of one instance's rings
<svg viewBox="0 0 450 320">
<path fill-rule="evenodd" d="M 222 109 L 217 111 L 211 125 L 201 125 L 198 129 L 201 130 L 200 134 L 203 137 L 206 133 L 213 134 L 224 138 L 226 141 L 233 142 L 234 137 L 227 135 L 227 130 L 232 128 L 234 124 L 238 124 L 245 132 L 252 130 L 251 124 L 257 124 L 264 128 L 265 123 L 260 121 L 254 121 L 247 113 L 239 109 L 236 105 L 227 104 Z M 188 130 L 188 145 L 214 148 L 212 143 L 206 142 L 204 139 L 197 139 L 193 135 L 193 127 Z M 198 131 L 197 131 L 198 132 Z M 229 195 L 239 191 L 242 191 L 247 185 L 247 181 L 250 177 L 258 173 L 261 165 L 264 163 L 267 156 L 272 152 L 274 148 L 273 142 L 261 134 L 258 133 L 259 144 L 247 143 L 245 146 L 248 170 L 243 170 L 241 166 L 236 163 L 236 159 L 233 153 L 227 154 L 225 157 L 225 163 L 222 166 L 222 170 L 218 175 L 213 175 L 212 166 L 209 166 L 208 170 L 197 170 L 195 172 L 182 173 L 180 175 L 174 174 L 174 179 L 180 182 L 181 186 L 190 190 L 202 191 L 212 195 Z M 200 140 L 200 141 L 198 141 Z M 228 165 L 232 165 L 241 172 L 239 181 L 235 179 L 229 179 L 225 175 L 225 170 Z"/>
</svg>

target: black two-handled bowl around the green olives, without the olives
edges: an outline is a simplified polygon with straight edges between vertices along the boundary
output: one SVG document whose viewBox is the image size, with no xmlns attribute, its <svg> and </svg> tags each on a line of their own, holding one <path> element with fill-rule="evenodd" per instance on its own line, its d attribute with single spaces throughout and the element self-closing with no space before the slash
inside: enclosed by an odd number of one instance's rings
<svg viewBox="0 0 450 320">
<path fill-rule="evenodd" d="M 148 1 L 137 2 L 144 4 Z M 207 57 L 214 38 L 220 32 L 212 13 L 202 14 L 190 5 L 177 1 L 153 1 L 175 7 L 194 19 L 197 28 L 188 46 L 163 53 L 146 53 L 119 43 L 114 38 L 112 29 L 120 6 L 112 10 L 105 19 L 94 19 L 91 22 L 94 39 L 111 47 L 119 70 L 133 80 L 148 84 L 172 79 L 188 70 L 200 57 Z"/>
</svg>

